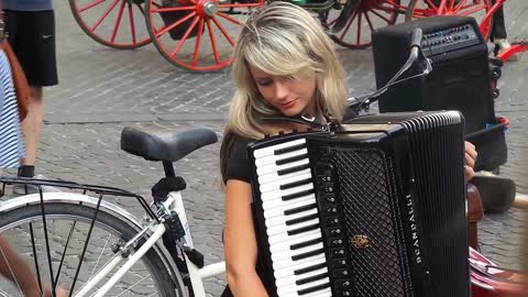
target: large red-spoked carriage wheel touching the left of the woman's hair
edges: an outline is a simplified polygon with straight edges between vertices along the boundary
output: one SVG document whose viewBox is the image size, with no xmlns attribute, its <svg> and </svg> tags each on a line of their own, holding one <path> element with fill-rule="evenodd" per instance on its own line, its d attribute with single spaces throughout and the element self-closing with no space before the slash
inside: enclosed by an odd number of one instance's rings
<svg viewBox="0 0 528 297">
<path fill-rule="evenodd" d="M 231 65 L 237 36 L 264 0 L 164 0 L 146 3 L 146 26 L 162 56 L 195 72 Z"/>
</svg>

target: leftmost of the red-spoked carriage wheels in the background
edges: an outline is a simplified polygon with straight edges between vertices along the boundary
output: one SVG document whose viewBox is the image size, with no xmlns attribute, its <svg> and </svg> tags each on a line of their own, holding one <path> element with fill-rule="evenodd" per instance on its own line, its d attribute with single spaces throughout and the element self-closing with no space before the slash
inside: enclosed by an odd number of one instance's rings
<svg viewBox="0 0 528 297">
<path fill-rule="evenodd" d="M 143 0 L 69 0 L 79 26 L 106 46 L 128 50 L 148 44 Z"/>
</svg>

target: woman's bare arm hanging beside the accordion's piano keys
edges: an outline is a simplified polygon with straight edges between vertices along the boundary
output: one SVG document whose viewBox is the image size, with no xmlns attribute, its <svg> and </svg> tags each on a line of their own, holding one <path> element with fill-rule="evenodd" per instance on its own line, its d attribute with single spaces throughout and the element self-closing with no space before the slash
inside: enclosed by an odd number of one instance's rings
<svg viewBox="0 0 528 297">
<path fill-rule="evenodd" d="M 251 199 L 250 184 L 237 179 L 228 180 L 223 233 L 228 283 L 235 297 L 267 297 L 255 271 L 257 245 Z"/>
</svg>

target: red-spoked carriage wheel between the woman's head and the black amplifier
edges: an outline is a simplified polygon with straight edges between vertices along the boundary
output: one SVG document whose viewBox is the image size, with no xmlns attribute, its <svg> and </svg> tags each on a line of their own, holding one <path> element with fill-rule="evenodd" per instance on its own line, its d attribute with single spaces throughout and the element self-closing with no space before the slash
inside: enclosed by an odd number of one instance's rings
<svg viewBox="0 0 528 297">
<path fill-rule="evenodd" d="M 400 0 L 349 0 L 349 13 L 345 8 L 341 14 L 331 15 L 327 23 L 330 37 L 339 45 L 359 50 L 371 46 L 371 32 L 396 22 L 402 10 Z M 332 18 L 333 16 L 333 18 Z M 342 20 L 340 20 L 342 19 Z"/>
</svg>

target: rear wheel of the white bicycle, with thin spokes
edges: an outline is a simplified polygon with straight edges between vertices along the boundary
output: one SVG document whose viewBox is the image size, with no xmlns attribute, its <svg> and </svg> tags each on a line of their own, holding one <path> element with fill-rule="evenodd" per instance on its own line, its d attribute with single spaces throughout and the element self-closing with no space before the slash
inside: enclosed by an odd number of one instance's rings
<svg viewBox="0 0 528 297">
<path fill-rule="evenodd" d="M 3 212 L 0 216 L 0 235 L 33 267 L 36 284 L 59 284 L 73 288 L 70 296 L 75 296 L 114 257 L 112 243 L 128 241 L 138 233 L 131 224 L 102 210 L 97 212 L 90 231 L 95 215 L 91 207 L 45 202 L 44 209 L 45 220 L 41 205 Z M 86 252 L 82 252 L 85 246 Z M 2 250 L 0 256 L 3 256 Z M 174 273 L 163 258 L 151 249 L 106 296 L 184 296 L 183 288 L 176 284 L 175 277 L 172 277 Z M 9 263 L 7 266 L 11 270 Z M 96 289 L 111 275 L 98 283 Z M 2 296 L 22 296 L 16 282 L 7 278 L 0 278 L 0 293 Z"/>
</svg>

